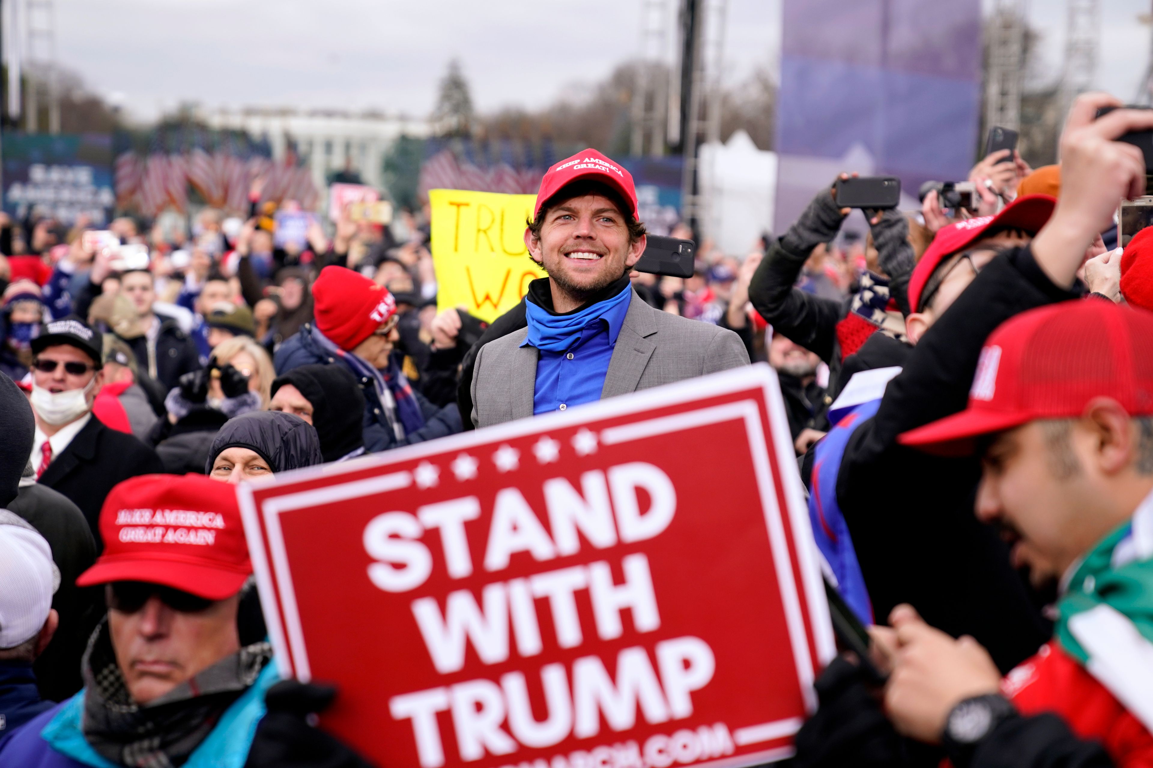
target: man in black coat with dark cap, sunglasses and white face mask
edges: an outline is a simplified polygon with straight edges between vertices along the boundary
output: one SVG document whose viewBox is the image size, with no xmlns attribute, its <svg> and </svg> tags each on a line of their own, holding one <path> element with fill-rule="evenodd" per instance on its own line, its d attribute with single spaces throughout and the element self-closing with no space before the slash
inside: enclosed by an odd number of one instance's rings
<svg viewBox="0 0 1153 768">
<path fill-rule="evenodd" d="M 133 435 L 92 417 L 104 383 L 100 334 L 80 318 L 50 322 L 32 343 L 31 462 L 37 481 L 70 499 L 103 549 L 100 507 L 121 480 L 164 472 L 160 458 Z"/>
</svg>

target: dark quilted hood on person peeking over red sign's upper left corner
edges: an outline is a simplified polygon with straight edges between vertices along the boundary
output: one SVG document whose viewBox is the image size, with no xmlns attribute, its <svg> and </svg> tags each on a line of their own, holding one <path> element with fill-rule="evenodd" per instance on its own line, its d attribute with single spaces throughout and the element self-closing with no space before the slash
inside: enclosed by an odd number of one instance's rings
<svg viewBox="0 0 1153 768">
<path fill-rule="evenodd" d="M 250 411 L 229 419 L 212 441 L 205 474 L 212 473 L 212 464 L 220 451 L 233 447 L 255 450 L 273 472 L 324 462 L 316 429 L 299 416 L 282 411 Z"/>
</svg>

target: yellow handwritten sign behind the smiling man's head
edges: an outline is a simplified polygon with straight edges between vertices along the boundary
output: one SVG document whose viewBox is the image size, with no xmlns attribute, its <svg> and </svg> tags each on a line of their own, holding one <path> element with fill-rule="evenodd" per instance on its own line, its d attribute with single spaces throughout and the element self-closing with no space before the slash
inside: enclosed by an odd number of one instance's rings
<svg viewBox="0 0 1153 768">
<path fill-rule="evenodd" d="M 525 248 L 535 195 L 429 191 L 437 309 L 464 306 L 491 322 L 544 276 Z"/>
</svg>

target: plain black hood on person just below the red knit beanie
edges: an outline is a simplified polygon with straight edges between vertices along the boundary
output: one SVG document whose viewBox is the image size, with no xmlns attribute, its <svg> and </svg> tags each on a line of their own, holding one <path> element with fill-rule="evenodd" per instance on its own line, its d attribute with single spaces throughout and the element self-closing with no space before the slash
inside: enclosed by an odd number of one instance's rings
<svg viewBox="0 0 1153 768">
<path fill-rule="evenodd" d="M 272 396 L 292 385 L 312 404 L 312 426 L 325 462 L 334 462 L 364 446 L 364 393 L 341 365 L 302 365 L 272 382 Z"/>
</svg>

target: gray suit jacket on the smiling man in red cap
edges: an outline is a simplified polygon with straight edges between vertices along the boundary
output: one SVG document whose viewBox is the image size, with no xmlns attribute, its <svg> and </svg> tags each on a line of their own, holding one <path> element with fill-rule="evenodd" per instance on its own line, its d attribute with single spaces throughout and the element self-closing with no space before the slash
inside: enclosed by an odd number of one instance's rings
<svg viewBox="0 0 1153 768">
<path fill-rule="evenodd" d="M 490 341 L 476 355 L 472 413 L 476 427 L 533 416 L 538 352 L 521 347 L 527 337 L 528 328 L 521 328 Z M 656 310 L 633 291 L 601 400 L 738 365 L 748 365 L 740 336 Z"/>
</svg>

